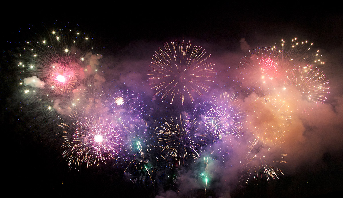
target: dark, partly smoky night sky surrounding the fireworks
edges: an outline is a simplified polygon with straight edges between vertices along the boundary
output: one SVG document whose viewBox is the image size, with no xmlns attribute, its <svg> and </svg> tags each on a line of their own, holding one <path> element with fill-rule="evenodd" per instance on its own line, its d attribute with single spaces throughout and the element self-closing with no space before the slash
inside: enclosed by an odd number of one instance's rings
<svg viewBox="0 0 343 198">
<path fill-rule="evenodd" d="M 51 11 L 51 10 L 50 10 Z M 342 193 L 343 186 L 343 15 L 341 12 L 317 8 L 256 9 L 232 5 L 217 8 L 194 8 L 190 5 L 170 5 L 163 9 L 114 8 L 106 11 L 77 11 L 72 14 L 44 16 L 34 12 L 30 17 L 3 19 L 1 38 L 1 125 L 3 142 L 3 172 L 5 186 L 11 195 L 48 197 L 322 197 Z M 43 26 L 44 25 L 44 26 Z M 283 150 L 287 163 L 279 168 L 280 179 L 249 180 L 242 174 L 238 159 L 246 148 L 232 149 L 232 156 L 223 163 L 209 163 L 211 181 L 205 191 L 197 177 L 201 162 L 184 166 L 171 165 L 160 172 L 176 179 L 156 176 L 154 184 L 145 174 L 123 174 L 115 160 L 98 166 L 72 168 L 62 157 L 63 140 L 58 110 L 47 113 L 39 104 L 25 102 L 18 84 L 23 76 L 18 72 L 17 48 L 46 28 L 75 28 L 91 35 L 93 51 L 101 54 L 98 70 L 105 81 L 101 84 L 104 98 L 118 90 L 141 94 L 145 109 L 143 119 L 148 130 L 163 125 L 164 118 L 191 113 L 193 107 L 213 94 L 236 92 L 243 104 L 254 95 L 242 91 L 235 82 L 236 68 L 249 49 L 269 47 L 281 39 L 309 40 L 320 50 L 325 65 L 320 71 L 329 82 L 327 100 L 307 113 L 293 113 L 293 123 L 284 137 Z M 209 92 L 195 98 L 194 103 L 169 105 L 160 96 L 153 97 L 148 77 L 151 57 L 165 43 L 189 40 L 201 46 L 211 57 L 217 72 Z M 28 85 L 27 85 L 28 86 Z M 250 96 L 248 96 L 250 95 Z M 168 99 L 167 99 L 168 101 Z M 170 100 L 169 100 L 170 102 Z M 97 109 L 93 109 L 97 111 Z M 154 122 L 155 120 L 156 123 Z M 4 130 L 5 129 L 5 130 Z M 154 133 L 150 130 L 149 134 Z M 248 141 L 248 132 L 245 132 Z M 156 134 L 152 135 L 156 140 Z M 205 152 L 204 152 L 205 153 Z M 152 153 L 149 154 L 151 157 Z M 162 154 L 163 155 L 163 154 Z M 238 157 L 237 157 L 238 156 Z M 172 159 L 170 163 L 175 161 Z M 169 163 L 169 164 L 170 164 Z M 142 173 L 144 173 L 142 171 Z M 141 181 L 145 176 L 145 183 Z M 161 180 L 161 182 L 159 181 Z"/>
</svg>

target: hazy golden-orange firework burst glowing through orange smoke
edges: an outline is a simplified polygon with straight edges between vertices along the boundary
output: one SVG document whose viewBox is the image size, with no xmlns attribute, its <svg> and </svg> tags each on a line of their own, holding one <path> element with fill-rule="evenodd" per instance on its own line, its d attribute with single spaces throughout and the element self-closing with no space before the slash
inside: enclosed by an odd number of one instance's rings
<svg viewBox="0 0 343 198">
<path fill-rule="evenodd" d="M 274 141 L 284 136 L 292 112 L 285 101 L 257 97 L 247 110 L 247 130 L 260 140 Z"/>
</svg>

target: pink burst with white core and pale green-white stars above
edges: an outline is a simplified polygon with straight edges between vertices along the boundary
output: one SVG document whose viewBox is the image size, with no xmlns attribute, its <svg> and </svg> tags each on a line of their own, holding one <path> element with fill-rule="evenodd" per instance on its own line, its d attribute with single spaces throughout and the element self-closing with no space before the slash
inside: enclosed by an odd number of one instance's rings
<svg viewBox="0 0 343 198">
<path fill-rule="evenodd" d="M 88 64 L 90 44 L 84 34 L 72 30 L 51 31 L 34 42 L 26 42 L 19 67 L 46 83 L 48 92 L 70 93 Z M 50 90 L 50 91 L 49 91 Z"/>
</svg>

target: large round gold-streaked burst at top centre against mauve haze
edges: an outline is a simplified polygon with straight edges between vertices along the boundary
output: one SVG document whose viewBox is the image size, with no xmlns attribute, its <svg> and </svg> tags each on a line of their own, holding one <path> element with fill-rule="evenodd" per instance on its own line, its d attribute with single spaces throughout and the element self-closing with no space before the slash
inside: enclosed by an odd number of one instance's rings
<svg viewBox="0 0 343 198">
<path fill-rule="evenodd" d="M 206 62 L 210 55 L 199 46 L 175 41 L 164 44 L 152 57 L 149 71 L 152 89 L 155 95 L 161 94 L 162 100 L 171 97 L 170 104 L 175 98 L 180 98 L 182 104 L 185 96 L 194 101 L 195 94 L 208 92 L 208 82 L 213 82 L 215 71 L 213 63 Z"/>
</svg>

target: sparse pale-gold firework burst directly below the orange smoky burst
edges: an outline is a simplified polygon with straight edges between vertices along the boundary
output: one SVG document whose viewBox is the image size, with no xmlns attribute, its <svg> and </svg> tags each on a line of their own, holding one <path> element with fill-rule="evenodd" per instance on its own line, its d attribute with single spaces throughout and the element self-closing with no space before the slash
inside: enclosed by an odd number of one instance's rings
<svg viewBox="0 0 343 198">
<path fill-rule="evenodd" d="M 246 183 L 248 183 L 249 178 L 251 177 L 253 179 L 265 177 L 268 182 L 270 179 L 279 179 L 280 175 L 283 175 L 283 173 L 279 168 L 274 166 L 280 163 L 287 163 L 284 161 L 287 154 L 275 154 L 273 149 L 280 147 L 281 143 L 270 144 L 257 139 L 250 143 L 251 145 L 248 146 L 247 163 L 243 165 L 248 169 L 248 179 Z"/>
</svg>

